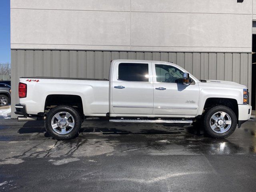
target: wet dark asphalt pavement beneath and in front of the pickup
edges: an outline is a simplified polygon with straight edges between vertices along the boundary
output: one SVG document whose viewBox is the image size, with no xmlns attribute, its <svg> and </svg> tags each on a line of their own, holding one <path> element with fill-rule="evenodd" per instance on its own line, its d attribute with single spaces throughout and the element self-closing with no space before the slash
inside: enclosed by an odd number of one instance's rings
<svg viewBox="0 0 256 192">
<path fill-rule="evenodd" d="M 226 139 L 197 127 L 90 120 L 78 138 L 0 119 L 0 191 L 255 191 L 256 122 Z"/>
</svg>

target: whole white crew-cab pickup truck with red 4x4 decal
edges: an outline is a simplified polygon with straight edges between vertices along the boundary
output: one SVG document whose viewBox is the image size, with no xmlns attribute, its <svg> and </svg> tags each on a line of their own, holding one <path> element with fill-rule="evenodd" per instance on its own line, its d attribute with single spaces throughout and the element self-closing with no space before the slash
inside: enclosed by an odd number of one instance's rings
<svg viewBox="0 0 256 192">
<path fill-rule="evenodd" d="M 110 122 L 179 125 L 202 122 L 206 135 L 230 136 L 250 119 L 246 86 L 198 80 L 180 66 L 162 61 L 113 60 L 109 80 L 22 77 L 18 120 L 45 119 L 56 139 L 72 139 L 88 117 Z"/>
</svg>

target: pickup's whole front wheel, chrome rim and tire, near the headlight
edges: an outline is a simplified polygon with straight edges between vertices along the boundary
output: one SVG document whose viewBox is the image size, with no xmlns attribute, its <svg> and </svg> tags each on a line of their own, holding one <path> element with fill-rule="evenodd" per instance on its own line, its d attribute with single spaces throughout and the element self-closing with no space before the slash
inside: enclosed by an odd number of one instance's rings
<svg viewBox="0 0 256 192">
<path fill-rule="evenodd" d="M 206 135 L 212 138 L 226 138 L 236 129 L 237 117 L 226 106 L 215 106 L 207 110 L 203 118 Z"/>
</svg>

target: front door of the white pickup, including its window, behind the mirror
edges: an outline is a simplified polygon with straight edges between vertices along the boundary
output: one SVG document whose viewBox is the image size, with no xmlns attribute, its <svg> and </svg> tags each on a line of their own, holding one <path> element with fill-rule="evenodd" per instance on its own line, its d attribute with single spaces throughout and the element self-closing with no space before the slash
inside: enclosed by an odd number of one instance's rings
<svg viewBox="0 0 256 192">
<path fill-rule="evenodd" d="M 153 64 L 154 115 L 194 116 L 198 110 L 199 86 L 183 85 L 183 71 L 168 64 Z"/>
</svg>

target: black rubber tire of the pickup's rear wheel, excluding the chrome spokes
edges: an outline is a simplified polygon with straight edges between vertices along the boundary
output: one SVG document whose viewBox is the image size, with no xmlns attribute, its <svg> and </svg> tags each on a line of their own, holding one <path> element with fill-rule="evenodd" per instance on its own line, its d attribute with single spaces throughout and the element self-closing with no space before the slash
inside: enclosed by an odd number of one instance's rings
<svg viewBox="0 0 256 192">
<path fill-rule="evenodd" d="M 58 133 L 58 132 L 61 132 L 61 130 L 62 130 L 60 127 L 57 127 L 55 129 L 55 131 L 52 128 L 53 117 L 60 112 L 69 113 L 71 116 L 70 116 L 70 118 L 68 118 L 67 121 L 69 124 L 74 123 L 73 128 L 70 126 L 67 126 L 67 128 L 65 130 L 70 131 L 70 132 L 68 132 L 66 134 Z M 62 119 L 64 119 L 64 115 L 65 115 L 65 113 L 60 114 L 60 116 L 62 116 Z M 57 122 L 58 119 L 54 118 L 53 121 Z M 69 139 L 73 139 L 78 136 L 79 130 L 81 128 L 82 120 L 81 120 L 81 116 L 80 116 L 78 110 L 76 110 L 75 108 L 73 108 L 71 106 L 60 105 L 60 106 L 56 106 L 55 108 L 52 108 L 48 112 L 44 124 L 45 124 L 46 130 L 53 138 L 58 139 L 58 140 L 69 140 Z M 58 131 L 58 132 L 56 132 L 56 131 Z"/>
</svg>

